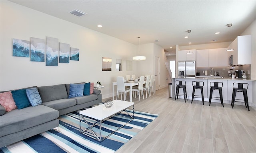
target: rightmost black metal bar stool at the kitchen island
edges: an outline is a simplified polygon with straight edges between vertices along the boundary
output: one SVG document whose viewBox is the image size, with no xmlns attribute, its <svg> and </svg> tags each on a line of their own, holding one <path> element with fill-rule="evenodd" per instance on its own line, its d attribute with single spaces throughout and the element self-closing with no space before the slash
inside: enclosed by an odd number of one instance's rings
<svg viewBox="0 0 256 153">
<path fill-rule="evenodd" d="M 248 111 L 250 111 L 248 96 L 247 96 L 248 85 L 249 85 L 248 83 L 235 83 L 235 82 L 233 83 L 233 92 L 232 92 L 232 100 L 231 100 L 232 108 L 234 107 L 234 103 L 236 100 L 240 100 L 236 102 L 241 102 L 241 100 L 243 100 L 245 107 L 247 107 Z M 243 92 L 244 99 L 236 99 L 236 92 Z"/>
</svg>

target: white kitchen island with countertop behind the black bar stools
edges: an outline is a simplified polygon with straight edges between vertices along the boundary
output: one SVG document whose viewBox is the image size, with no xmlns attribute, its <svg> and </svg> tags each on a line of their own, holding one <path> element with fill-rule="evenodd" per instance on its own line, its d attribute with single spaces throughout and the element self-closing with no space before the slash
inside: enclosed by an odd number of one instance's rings
<svg viewBox="0 0 256 153">
<path fill-rule="evenodd" d="M 204 82 L 204 101 L 209 102 L 210 98 L 210 82 L 223 82 L 223 87 L 222 87 L 222 94 L 223 94 L 223 102 L 226 104 L 231 104 L 232 100 L 232 91 L 233 91 L 233 83 L 248 83 L 248 89 L 247 89 L 247 94 L 248 94 L 248 102 L 249 106 L 252 105 L 252 79 L 243 79 L 243 78 L 230 78 L 230 77 L 204 77 L 204 76 L 199 76 L 199 77 L 176 77 L 172 79 L 172 97 L 175 98 L 175 92 L 176 92 L 176 80 L 184 80 L 186 81 L 186 88 L 187 88 L 187 96 L 189 102 L 191 102 L 192 99 L 192 91 L 193 91 L 193 86 L 192 86 L 192 81 L 202 81 Z M 180 93 L 183 91 L 180 90 Z M 200 90 L 195 90 L 195 95 L 201 95 Z M 219 97 L 218 91 L 214 91 L 212 93 L 212 96 Z M 183 96 L 179 96 L 178 98 L 184 98 Z M 243 93 L 242 92 L 237 92 L 236 94 L 236 99 L 244 99 Z M 194 100 L 200 100 L 202 101 L 202 98 L 194 98 Z M 219 102 L 220 100 L 215 100 L 212 99 L 212 102 Z M 206 103 L 205 103 L 206 104 Z M 208 103 L 207 103 L 208 104 Z M 244 105 L 244 102 L 235 102 L 237 105 Z"/>
</svg>

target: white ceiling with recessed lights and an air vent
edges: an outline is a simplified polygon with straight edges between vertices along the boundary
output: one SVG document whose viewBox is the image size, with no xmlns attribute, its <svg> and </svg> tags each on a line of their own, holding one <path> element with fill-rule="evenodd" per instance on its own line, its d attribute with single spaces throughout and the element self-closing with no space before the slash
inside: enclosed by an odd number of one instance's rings
<svg viewBox="0 0 256 153">
<path fill-rule="evenodd" d="M 156 43 L 167 53 L 175 53 L 176 45 L 185 46 L 188 42 L 228 42 L 229 31 L 232 41 L 256 19 L 255 0 L 10 1 L 135 45 L 140 37 L 140 44 Z M 70 14 L 75 9 L 86 15 Z M 230 23 L 232 27 L 227 27 Z"/>
</svg>

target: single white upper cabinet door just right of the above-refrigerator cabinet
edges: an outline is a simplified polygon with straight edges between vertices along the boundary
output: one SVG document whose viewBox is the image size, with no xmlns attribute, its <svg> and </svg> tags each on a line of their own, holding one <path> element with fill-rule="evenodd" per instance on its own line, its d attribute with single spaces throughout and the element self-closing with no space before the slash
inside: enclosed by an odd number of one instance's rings
<svg viewBox="0 0 256 153">
<path fill-rule="evenodd" d="M 196 67 L 209 67 L 208 49 L 196 50 Z"/>
</svg>

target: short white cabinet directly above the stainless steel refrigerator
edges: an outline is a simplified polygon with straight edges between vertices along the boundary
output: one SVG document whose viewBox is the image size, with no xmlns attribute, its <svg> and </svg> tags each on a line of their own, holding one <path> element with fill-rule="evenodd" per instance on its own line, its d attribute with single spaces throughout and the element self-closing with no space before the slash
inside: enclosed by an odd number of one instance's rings
<svg viewBox="0 0 256 153">
<path fill-rule="evenodd" d="M 196 60 L 196 49 L 177 51 L 176 53 L 176 61 L 194 61 L 194 60 Z"/>
</svg>

